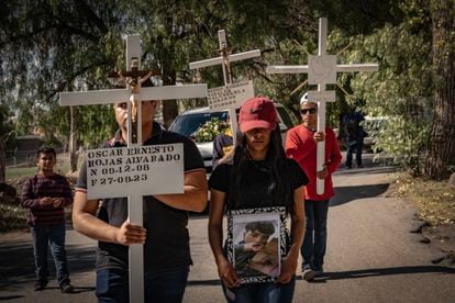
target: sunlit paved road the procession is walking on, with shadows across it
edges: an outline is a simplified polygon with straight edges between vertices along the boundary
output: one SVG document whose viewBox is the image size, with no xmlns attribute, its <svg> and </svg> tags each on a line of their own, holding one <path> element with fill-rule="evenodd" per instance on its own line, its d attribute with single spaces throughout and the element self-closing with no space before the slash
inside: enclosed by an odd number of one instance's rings
<svg viewBox="0 0 455 303">
<path fill-rule="evenodd" d="M 329 212 L 325 276 L 297 281 L 295 302 L 455 302 L 455 269 L 432 265 L 436 249 L 419 243 L 414 209 L 387 197 L 390 167 L 366 161 L 363 169 L 336 172 Z M 224 302 L 207 240 L 207 216 L 189 228 L 195 267 L 185 302 Z M 69 227 L 70 228 L 70 227 Z M 96 302 L 95 242 L 68 231 L 67 248 L 76 293 L 62 294 L 55 280 L 34 292 L 31 235 L 0 235 L 0 301 Z"/>
</svg>

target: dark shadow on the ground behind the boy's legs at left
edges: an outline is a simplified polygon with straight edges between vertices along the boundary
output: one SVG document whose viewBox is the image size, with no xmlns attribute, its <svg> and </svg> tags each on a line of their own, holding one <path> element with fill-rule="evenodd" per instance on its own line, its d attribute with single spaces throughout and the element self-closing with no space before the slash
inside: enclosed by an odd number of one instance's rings
<svg viewBox="0 0 455 303">
<path fill-rule="evenodd" d="M 95 270 L 96 248 L 67 245 L 69 274 Z M 30 240 L 0 244 L 0 289 L 21 289 L 35 281 L 33 245 Z M 49 279 L 55 279 L 55 266 L 51 250 L 47 255 Z"/>
</svg>

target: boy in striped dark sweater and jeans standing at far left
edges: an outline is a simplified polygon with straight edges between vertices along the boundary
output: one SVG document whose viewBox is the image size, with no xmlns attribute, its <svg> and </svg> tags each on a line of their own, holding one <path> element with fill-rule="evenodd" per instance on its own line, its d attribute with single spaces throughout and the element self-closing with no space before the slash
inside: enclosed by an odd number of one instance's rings
<svg viewBox="0 0 455 303">
<path fill-rule="evenodd" d="M 64 293 L 73 292 L 69 280 L 68 261 L 65 250 L 65 209 L 73 203 L 73 193 L 64 176 L 54 171 L 57 164 L 52 147 L 41 147 L 36 152 L 36 175 L 25 181 L 21 205 L 30 210 L 29 225 L 33 236 L 36 282 L 34 290 L 44 290 L 48 283 L 47 247 L 54 257 L 58 287 Z"/>
</svg>

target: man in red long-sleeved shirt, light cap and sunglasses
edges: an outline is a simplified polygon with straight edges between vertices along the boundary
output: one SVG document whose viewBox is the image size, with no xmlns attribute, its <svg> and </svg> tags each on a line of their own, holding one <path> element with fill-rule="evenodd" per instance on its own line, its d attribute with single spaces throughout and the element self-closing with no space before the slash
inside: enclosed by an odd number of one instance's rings
<svg viewBox="0 0 455 303">
<path fill-rule="evenodd" d="M 333 197 L 332 173 L 340 166 L 342 155 L 332 128 L 317 132 L 318 103 L 308 100 L 308 93 L 300 100 L 302 124 L 288 131 L 286 154 L 293 158 L 307 173 L 310 182 L 304 187 L 306 233 L 300 252 L 303 258 L 303 279 L 311 281 L 323 272 L 326 248 L 326 220 L 329 200 Z M 317 171 L 317 143 L 325 141 L 324 169 Z M 324 180 L 324 193 L 317 193 L 317 180 Z"/>
</svg>

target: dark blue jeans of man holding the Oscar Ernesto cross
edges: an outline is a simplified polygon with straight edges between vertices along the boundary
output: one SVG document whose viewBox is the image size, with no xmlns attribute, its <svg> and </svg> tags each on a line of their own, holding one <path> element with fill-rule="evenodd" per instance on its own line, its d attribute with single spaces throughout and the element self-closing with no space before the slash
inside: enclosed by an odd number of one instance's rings
<svg viewBox="0 0 455 303">
<path fill-rule="evenodd" d="M 180 303 L 184 300 L 189 267 L 146 272 L 145 302 Z M 97 271 L 98 302 L 130 302 L 129 271 L 123 269 L 100 269 Z"/>
</svg>

